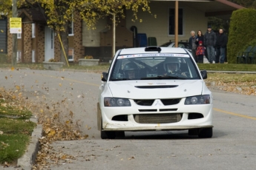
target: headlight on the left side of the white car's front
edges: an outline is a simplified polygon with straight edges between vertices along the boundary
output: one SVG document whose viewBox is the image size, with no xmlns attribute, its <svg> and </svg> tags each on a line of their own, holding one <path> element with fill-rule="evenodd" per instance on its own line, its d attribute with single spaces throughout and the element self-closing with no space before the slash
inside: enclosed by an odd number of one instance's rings
<svg viewBox="0 0 256 170">
<path fill-rule="evenodd" d="M 131 106 L 127 98 L 104 98 L 104 106 Z"/>
</svg>

